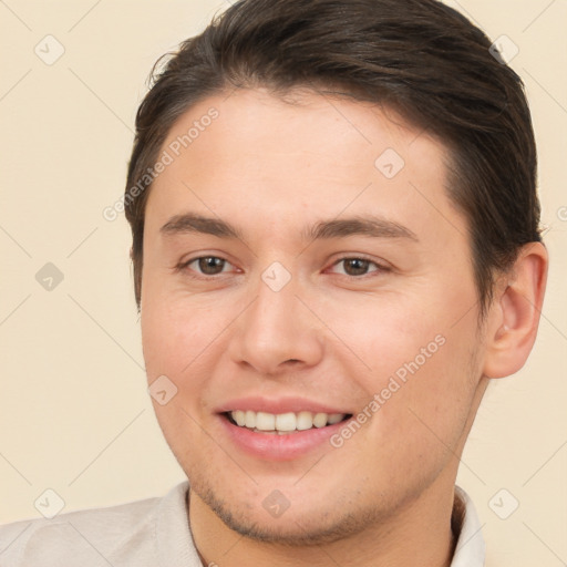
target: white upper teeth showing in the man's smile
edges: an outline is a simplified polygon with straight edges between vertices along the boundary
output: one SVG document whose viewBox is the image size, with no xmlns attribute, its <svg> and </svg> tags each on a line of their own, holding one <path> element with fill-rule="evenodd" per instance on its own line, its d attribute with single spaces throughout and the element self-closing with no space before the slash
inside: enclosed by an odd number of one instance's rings
<svg viewBox="0 0 567 567">
<path fill-rule="evenodd" d="M 241 427 L 257 429 L 259 431 L 303 431 L 316 427 L 324 427 L 342 421 L 346 413 L 266 413 L 252 412 L 250 410 L 236 410 L 230 412 L 233 420 Z"/>
</svg>

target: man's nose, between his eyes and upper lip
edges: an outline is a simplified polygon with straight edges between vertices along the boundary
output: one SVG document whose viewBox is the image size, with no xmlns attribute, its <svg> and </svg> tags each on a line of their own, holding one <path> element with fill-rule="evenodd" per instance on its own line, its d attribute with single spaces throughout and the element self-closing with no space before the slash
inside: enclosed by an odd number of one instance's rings
<svg viewBox="0 0 567 567">
<path fill-rule="evenodd" d="M 265 375 L 316 365 L 323 354 L 319 321 L 291 284 L 274 291 L 264 282 L 235 321 L 229 354 L 239 365 Z"/>
</svg>

